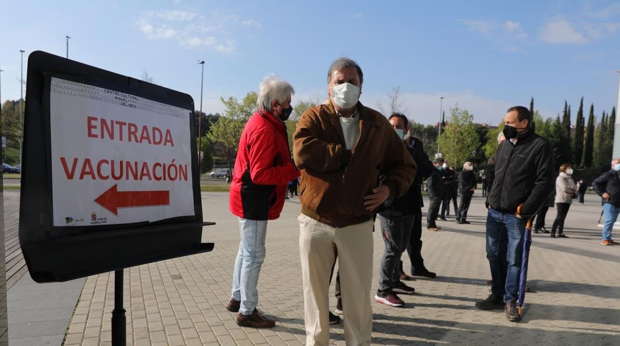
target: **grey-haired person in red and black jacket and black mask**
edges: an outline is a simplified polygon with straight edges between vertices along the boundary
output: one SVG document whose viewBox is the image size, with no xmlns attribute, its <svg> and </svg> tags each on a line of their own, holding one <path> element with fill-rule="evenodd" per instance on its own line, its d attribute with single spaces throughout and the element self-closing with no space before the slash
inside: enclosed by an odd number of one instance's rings
<svg viewBox="0 0 620 346">
<path fill-rule="evenodd" d="M 288 182 L 299 171 L 291 162 L 284 121 L 293 111 L 293 87 L 274 75 L 259 85 L 257 111 L 247 121 L 232 173 L 229 209 L 239 217 L 241 241 L 232 274 L 228 311 L 243 327 L 273 327 L 259 313 L 257 283 L 265 259 L 267 220 L 280 217 Z"/>
</svg>

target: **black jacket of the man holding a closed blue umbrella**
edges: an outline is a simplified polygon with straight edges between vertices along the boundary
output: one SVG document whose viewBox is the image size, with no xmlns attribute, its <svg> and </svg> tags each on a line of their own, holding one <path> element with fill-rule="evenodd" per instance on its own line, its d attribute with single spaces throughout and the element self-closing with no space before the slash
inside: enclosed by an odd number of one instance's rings
<svg viewBox="0 0 620 346">
<path fill-rule="evenodd" d="M 529 130 L 512 144 L 503 141 L 495 155 L 495 180 L 487 202 L 504 213 L 531 217 L 556 188 L 551 145 Z"/>
</svg>

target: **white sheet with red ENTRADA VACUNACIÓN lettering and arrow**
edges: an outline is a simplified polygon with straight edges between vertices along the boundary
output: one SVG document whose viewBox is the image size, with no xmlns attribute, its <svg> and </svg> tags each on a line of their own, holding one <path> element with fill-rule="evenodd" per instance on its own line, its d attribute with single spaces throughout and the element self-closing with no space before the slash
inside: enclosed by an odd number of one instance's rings
<svg viewBox="0 0 620 346">
<path fill-rule="evenodd" d="M 193 216 L 190 111 L 52 78 L 54 226 Z"/>
</svg>

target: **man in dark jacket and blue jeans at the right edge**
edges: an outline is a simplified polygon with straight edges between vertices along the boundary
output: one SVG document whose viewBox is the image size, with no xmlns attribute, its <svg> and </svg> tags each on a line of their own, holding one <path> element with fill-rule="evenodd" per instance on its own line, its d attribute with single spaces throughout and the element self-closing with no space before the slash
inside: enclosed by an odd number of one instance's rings
<svg viewBox="0 0 620 346">
<path fill-rule="evenodd" d="M 611 162 L 611 170 L 606 171 L 592 182 L 598 196 L 603 197 L 603 236 L 601 245 L 620 245 L 611 240 L 611 229 L 620 214 L 620 158 Z"/>
</svg>

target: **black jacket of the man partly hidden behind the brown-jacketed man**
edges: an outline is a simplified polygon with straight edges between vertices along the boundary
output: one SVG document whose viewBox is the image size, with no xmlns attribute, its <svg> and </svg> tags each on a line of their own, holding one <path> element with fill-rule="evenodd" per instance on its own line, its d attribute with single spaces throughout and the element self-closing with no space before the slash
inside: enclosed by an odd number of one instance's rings
<svg viewBox="0 0 620 346">
<path fill-rule="evenodd" d="M 391 203 L 386 203 L 386 207 L 379 214 L 382 216 L 403 216 L 414 215 L 415 210 L 420 210 L 423 206 L 422 202 L 422 180 L 428 178 L 436 170 L 433 163 L 428 160 L 428 155 L 424 152 L 422 141 L 411 137 L 413 146 L 405 144 L 405 147 L 414 158 L 418 165 L 418 171 L 415 173 L 414 182 L 411 183 L 409 191 L 402 196 L 396 197 Z"/>
</svg>

